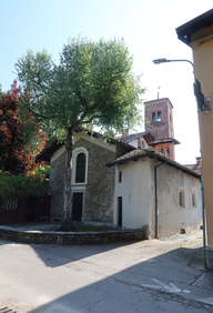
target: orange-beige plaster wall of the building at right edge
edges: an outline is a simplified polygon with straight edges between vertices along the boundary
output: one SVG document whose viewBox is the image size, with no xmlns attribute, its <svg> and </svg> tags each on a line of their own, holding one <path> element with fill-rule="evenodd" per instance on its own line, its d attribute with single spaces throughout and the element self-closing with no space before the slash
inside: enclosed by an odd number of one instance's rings
<svg viewBox="0 0 213 313">
<path fill-rule="evenodd" d="M 213 111 L 213 24 L 202 28 L 192 34 L 192 50 L 195 78 L 201 83 L 202 93 L 210 98 L 210 110 Z M 207 34 L 209 33 L 209 34 Z M 213 112 L 199 111 L 204 203 L 206 214 L 207 246 L 213 249 Z"/>
</svg>

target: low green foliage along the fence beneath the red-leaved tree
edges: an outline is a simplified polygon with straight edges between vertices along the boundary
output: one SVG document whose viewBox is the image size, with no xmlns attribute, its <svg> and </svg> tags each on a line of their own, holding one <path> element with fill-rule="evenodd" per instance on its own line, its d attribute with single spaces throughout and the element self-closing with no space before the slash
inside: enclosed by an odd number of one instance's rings
<svg viewBox="0 0 213 313">
<path fill-rule="evenodd" d="M 49 190 L 49 180 L 44 175 L 34 176 L 8 176 L 0 171 L 0 196 L 30 196 L 47 195 Z"/>
</svg>

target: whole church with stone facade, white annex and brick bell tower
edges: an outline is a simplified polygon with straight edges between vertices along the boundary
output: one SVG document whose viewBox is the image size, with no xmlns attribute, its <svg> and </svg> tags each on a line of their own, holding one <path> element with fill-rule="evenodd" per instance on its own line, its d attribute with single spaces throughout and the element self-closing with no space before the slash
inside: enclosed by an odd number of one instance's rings
<svg viewBox="0 0 213 313">
<path fill-rule="evenodd" d="M 173 105 L 158 99 L 145 105 L 145 131 L 110 138 L 83 129 L 74 134 L 73 219 L 90 224 L 141 229 L 150 238 L 201 225 L 200 173 L 175 162 Z M 40 153 L 49 161 L 51 219 L 61 219 L 65 147 L 54 139 Z"/>
</svg>

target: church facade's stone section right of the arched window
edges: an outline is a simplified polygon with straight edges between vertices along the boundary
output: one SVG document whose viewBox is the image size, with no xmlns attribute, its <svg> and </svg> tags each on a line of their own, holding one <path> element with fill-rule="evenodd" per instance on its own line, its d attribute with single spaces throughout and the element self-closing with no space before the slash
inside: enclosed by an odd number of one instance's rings
<svg viewBox="0 0 213 313">
<path fill-rule="evenodd" d="M 79 139 L 74 149 L 80 147 L 89 152 L 84 221 L 113 223 L 115 169 L 106 168 L 105 163 L 115 159 L 115 152 L 95 144 L 95 139 L 94 142 Z"/>
</svg>

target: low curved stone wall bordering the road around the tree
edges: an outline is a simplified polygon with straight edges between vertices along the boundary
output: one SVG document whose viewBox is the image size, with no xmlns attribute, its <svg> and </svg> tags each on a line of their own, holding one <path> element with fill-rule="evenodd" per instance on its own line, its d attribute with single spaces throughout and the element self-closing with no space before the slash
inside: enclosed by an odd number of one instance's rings
<svg viewBox="0 0 213 313">
<path fill-rule="evenodd" d="M 125 241 L 141 241 L 145 239 L 143 230 L 109 231 L 109 232 L 21 232 L 0 226 L 0 239 L 24 243 L 111 243 Z"/>
</svg>

